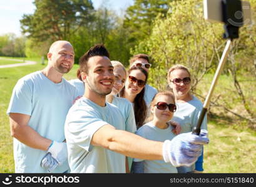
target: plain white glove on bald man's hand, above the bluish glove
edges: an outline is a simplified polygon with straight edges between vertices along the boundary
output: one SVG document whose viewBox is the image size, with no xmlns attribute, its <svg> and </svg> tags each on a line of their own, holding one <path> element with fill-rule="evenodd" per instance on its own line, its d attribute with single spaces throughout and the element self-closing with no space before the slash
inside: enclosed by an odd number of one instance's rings
<svg viewBox="0 0 256 187">
<path fill-rule="evenodd" d="M 64 142 L 59 143 L 58 141 L 53 141 L 53 144 L 49 147 L 48 152 L 51 153 L 59 165 L 62 165 L 64 161 L 68 159 L 67 145 Z"/>
</svg>

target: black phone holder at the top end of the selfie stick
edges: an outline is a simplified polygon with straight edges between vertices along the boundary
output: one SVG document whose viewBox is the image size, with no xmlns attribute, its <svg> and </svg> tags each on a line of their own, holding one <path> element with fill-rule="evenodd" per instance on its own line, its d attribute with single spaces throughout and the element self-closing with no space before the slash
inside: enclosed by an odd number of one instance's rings
<svg viewBox="0 0 256 187">
<path fill-rule="evenodd" d="M 242 2 L 240 0 L 222 0 L 222 21 L 225 39 L 239 37 L 239 27 L 243 26 Z"/>
</svg>

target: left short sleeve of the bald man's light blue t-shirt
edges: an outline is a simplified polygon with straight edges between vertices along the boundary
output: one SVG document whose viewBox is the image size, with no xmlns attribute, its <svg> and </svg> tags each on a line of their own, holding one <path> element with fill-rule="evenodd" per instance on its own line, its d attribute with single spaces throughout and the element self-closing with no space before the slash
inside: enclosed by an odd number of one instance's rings
<svg viewBox="0 0 256 187">
<path fill-rule="evenodd" d="M 29 87 L 28 82 L 18 80 L 13 89 L 13 94 L 9 103 L 7 114 L 9 113 L 23 113 L 31 115 L 33 103 L 33 85 Z"/>
</svg>

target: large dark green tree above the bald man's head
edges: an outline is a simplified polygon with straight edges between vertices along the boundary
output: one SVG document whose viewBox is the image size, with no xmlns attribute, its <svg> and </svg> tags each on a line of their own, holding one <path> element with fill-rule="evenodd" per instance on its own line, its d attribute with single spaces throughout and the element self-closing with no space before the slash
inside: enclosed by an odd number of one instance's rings
<svg viewBox="0 0 256 187">
<path fill-rule="evenodd" d="M 90 0 L 34 0 L 34 14 L 24 14 L 21 29 L 36 42 L 69 40 L 92 19 Z"/>
</svg>

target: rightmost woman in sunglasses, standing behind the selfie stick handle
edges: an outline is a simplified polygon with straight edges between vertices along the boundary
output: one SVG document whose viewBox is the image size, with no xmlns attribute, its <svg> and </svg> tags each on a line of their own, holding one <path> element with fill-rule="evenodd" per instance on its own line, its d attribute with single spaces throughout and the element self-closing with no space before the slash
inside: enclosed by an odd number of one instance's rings
<svg viewBox="0 0 256 187">
<path fill-rule="evenodd" d="M 168 84 L 172 89 L 177 105 L 177 111 L 173 116 L 175 122 L 180 123 L 181 133 L 192 132 L 193 127 L 197 126 L 203 104 L 190 93 L 190 72 L 184 65 L 174 65 L 168 71 Z M 207 116 L 202 123 L 201 129 L 207 130 Z M 178 173 L 200 173 L 203 171 L 203 153 L 198 158 L 195 165 L 190 167 L 181 166 L 177 168 Z"/>
</svg>

